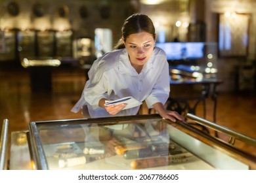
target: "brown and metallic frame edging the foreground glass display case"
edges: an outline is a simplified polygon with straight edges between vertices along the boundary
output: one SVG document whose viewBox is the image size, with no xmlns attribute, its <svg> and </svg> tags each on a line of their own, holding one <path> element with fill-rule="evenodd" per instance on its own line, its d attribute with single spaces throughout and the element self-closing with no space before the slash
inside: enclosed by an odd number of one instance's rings
<svg viewBox="0 0 256 183">
<path fill-rule="evenodd" d="M 189 115 L 188 115 L 189 116 Z M 74 120 L 56 120 L 56 121 L 45 121 L 45 122 L 31 122 L 29 125 L 29 133 L 28 133 L 28 143 L 31 151 L 32 159 L 35 163 L 36 169 L 49 169 L 47 165 L 47 158 L 45 156 L 45 152 L 43 150 L 42 142 L 39 136 L 39 131 L 42 129 L 49 129 L 49 127 L 53 129 L 58 129 L 61 126 L 69 126 L 72 125 L 81 125 L 81 124 L 98 124 L 98 125 L 114 125 L 114 124 L 127 124 L 127 121 L 131 120 L 161 120 L 164 124 L 171 125 L 175 131 L 181 131 L 184 135 L 188 135 L 190 138 L 196 139 L 202 143 L 205 143 L 210 148 L 214 148 L 217 150 L 221 150 L 221 153 L 230 156 L 235 161 L 241 161 L 248 166 L 249 169 L 256 169 L 256 160 L 253 155 L 247 154 L 234 146 L 224 143 L 215 137 L 211 137 L 209 134 L 204 133 L 200 129 L 193 127 L 192 125 L 186 122 L 171 122 L 170 120 L 165 120 L 161 118 L 159 114 L 144 114 L 144 115 L 135 115 L 135 116 L 115 116 L 110 118 L 89 118 L 89 119 L 74 119 Z M 213 123 L 214 124 L 214 123 Z M 182 138 L 175 137 L 175 131 L 172 133 L 172 138 L 178 139 L 181 141 Z M 235 135 L 234 135 L 235 134 Z M 229 135 L 234 135 L 234 138 L 244 140 L 245 143 L 249 142 L 253 146 L 256 146 L 256 140 L 247 138 L 244 135 L 238 135 L 237 133 L 230 133 Z M 249 141 L 247 141 L 249 139 Z M 223 159 L 223 158 L 221 158 Z M 214 164 L 214 162 L 212 162 Z"/>
</svg>

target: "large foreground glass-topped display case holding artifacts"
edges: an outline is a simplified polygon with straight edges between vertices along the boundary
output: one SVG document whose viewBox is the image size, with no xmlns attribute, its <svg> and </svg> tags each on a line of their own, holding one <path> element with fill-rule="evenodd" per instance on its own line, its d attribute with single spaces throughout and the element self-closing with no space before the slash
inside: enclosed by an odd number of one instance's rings
<svg viewBox="0 0 256 183">
<path fill-rule="evenodd" d="M 158 114 L 31 122 L 28 137 L 35 169 L 256 169 L 255 156 Z"/>
</svg>

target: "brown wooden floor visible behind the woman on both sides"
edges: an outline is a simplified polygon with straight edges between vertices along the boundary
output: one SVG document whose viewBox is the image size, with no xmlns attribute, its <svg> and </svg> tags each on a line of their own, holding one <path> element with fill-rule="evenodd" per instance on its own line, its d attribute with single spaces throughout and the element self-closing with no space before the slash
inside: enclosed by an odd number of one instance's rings
<svg viewBox="0 0 256 183">
<path fill-rule="evenodd" d="M 86 81 L 82 69 L 53 69 L 51 92 L 32 92 L 28 69 L 0 68 L 0 120 L 9 119 L 9 132 L 28 129 L 32 121 L 82 118 L 70 112 Z M 198 107 L 202 116 L 202 107 Z M 213 103 L 207 99 L 207 120 L 213 120 Z M 256 95 L 219 93 L 217 124 L 256 139 Z M 227 137 L 220 135 L 227 141 Z M 235 144 L 236 145 L 236 144 Z M 256 156 L 256 148 L 238 144 L 238 148 Z"/>
</svg>

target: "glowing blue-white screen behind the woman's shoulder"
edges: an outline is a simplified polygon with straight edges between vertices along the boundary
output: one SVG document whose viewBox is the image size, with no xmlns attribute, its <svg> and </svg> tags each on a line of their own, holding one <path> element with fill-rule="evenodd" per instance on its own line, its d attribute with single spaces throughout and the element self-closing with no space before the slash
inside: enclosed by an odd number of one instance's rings
<svg viewBox="0 0 256 183">
<path fill-rule="evenodd" d="M 163 42 L 156 43 L 163 49 L 167 60 L 184 60 L 203 58 L 203 42 Z"/>
</svg>

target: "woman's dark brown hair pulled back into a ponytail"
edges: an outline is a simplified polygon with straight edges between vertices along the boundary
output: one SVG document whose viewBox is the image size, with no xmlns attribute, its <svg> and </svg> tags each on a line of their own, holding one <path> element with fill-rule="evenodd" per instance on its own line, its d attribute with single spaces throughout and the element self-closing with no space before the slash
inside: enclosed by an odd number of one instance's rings
<svg viewBox="0 0 256 183">
<path fill-rule="evenodd" d="M 122 31 L 122 37 L 124 41 L 126 41 L 127 37 L 134 33 L 140 33 L 142 31 L 145 31 L 147 33 L 152 34 L 152 37 L 155 39 L 156 37 L 156 31 L 154 24 L 152 20 L 146 16 L 146 14 L 133 14 L 129 16 L 121 29 Z M 116 50 L 125 48 L 125 44 L 123 44 L 123 41 L 120 39 L 116 46 L 114 46 Z"/>
</svg>

